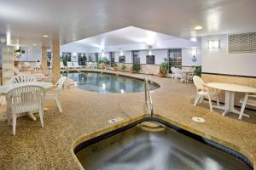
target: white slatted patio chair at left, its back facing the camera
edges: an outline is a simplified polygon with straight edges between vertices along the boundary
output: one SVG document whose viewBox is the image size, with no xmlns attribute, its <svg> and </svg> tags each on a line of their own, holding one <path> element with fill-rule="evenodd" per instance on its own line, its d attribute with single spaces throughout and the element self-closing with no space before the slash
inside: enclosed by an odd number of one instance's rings
<svg viewBox="0 0 256 170">
<path fill-rule="evenodd" d="M 41 126 L 44 127 L 44 98 L 45 90 L 40 86 L 14 88 L 6 94 L 8 122 L 12 122 L 14 135 L 16 119 L 21 113 L 38 111 Z"/>
</svg>

